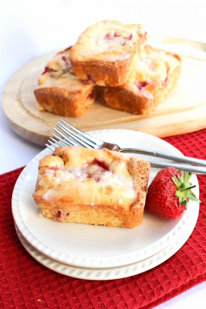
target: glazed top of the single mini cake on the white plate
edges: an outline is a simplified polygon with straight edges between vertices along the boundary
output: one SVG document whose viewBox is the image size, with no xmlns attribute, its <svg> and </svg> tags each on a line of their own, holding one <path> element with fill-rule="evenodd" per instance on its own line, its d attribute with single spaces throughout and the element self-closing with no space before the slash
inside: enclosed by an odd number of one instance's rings
<svg viewBox="0 0 206 309">
<path fill-rule="evenodd" d="M 50 203 L 128 211 L 135 203 L 142 206 L 149 170 L 147 161 L 116 151 L 58 147 L 40 160 L 34 195 Z"/>
</svg>

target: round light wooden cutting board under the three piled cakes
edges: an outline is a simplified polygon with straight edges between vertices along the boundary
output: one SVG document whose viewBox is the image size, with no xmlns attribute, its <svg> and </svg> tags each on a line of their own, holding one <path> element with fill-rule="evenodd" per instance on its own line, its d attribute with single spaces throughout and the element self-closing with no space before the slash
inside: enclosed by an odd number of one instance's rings
<svg viewBox="0 0 206 309">
<path fill-rule="evenodd" d="M 206 127 L 206 44 L 177 38 L 153 38 L 154 47 L 179 53 L 182 69 L 170 94 L 150 115 L 132 115 L 107 107 L 99 96 L 84 113 L 63 117 L 83 131 L 132 129 L 158 137 Z M 37 109 L 33 90 L 44 66 L 57 52 L 38 57 L 17 71 L 2 93 L 2 108 L 11 128 L 23 138 L 44 145 L 61 116 Z"/>
</svg>

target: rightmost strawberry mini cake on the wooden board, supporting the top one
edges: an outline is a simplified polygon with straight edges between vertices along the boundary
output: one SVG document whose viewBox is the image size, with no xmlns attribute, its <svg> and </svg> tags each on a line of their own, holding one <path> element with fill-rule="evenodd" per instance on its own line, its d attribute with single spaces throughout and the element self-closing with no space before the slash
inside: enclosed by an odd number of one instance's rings
<svg viewBox="0 0 206 309">
<path fill-rule="evenodd" d="M 127 83 L 105 87 L 108 106 L 132 114 L 149 114 L 174 87 L 180 74 L 179 56 L 145 46 Z"/>
</svg>

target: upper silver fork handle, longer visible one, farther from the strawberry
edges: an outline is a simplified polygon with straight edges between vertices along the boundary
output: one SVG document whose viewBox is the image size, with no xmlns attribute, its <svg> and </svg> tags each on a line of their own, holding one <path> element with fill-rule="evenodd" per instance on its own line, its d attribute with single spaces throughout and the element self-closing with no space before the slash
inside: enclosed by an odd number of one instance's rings
<svg viewBox="0 0 206 309">
<path fill-rule="evenodd" d="M 145 149 L 137 149 L 137 148 L 124 148 L 120 149 L 119 152 L 132 152 L 132 153 L 138 153 L 142 155 L 151 155 L 151 156 L 156 156 L 159 158 L 165 158 L 169 160 L 174 160 L 174 161 L 179 161 L 183 163 L 190 163 L 190 164 L 195 164 L 199 166 L 206 166 L 206 160 L 202 159 L 196 159 L 196 158 L 191 158 L 191 157 L 185 157 L 181 155 L 172 155 L 168 154 L 166 152 L 160 152 L 160 151 L 154 151 L 154 150 L 145 150 Z"/>
</svg>

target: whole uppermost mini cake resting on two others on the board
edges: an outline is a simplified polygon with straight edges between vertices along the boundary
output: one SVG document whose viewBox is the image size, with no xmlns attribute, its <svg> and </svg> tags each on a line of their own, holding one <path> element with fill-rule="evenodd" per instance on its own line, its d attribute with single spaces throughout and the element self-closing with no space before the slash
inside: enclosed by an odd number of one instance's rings
<svg viewBox="0 0 206 309">
<path fill-rule="evenodd" d="M 146 32 L 140 24 L 124 25 L 112 20 L 96 23 L 80 35 L 71 49 L 74 73 L 99 86 L 122 85 L 128 79 L 134 55 L 139 54 L 145 41 Z"/>
</svg>

